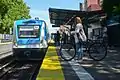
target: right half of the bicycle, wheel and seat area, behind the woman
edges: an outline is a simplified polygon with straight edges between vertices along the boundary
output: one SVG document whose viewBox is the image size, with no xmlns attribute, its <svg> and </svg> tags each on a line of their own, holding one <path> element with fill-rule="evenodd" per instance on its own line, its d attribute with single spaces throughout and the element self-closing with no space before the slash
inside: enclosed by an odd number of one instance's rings
<svg viewBox="0 0 120 80">
<path fill-rule="evenodd" d="M 106 40 L 104 37 L 97 36 L 95 40 L 88 49 L 90 58 L 95 61 L 101 61 L 107 56 L 107 46 Z"/>
</svg>

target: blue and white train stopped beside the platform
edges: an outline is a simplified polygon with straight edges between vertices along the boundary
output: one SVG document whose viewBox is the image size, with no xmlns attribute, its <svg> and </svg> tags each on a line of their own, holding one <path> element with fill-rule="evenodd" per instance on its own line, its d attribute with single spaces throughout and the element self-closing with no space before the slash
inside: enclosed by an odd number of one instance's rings
<svg viewBox="0 0 120 80">
<path fill-rule="evenodd" d="M 44 20 L 14 22 L 13 55 L 17 60 L 41 60 L 48 47 L 48 29 Z"/>
</svg>

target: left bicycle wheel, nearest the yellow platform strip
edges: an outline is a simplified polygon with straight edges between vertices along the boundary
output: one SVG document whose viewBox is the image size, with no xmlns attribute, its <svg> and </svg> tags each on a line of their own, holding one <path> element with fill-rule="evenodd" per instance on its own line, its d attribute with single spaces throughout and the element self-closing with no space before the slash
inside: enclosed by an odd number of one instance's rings
<svg viewBox="0 0 120 80">
<path fill-rule="evenodd" d="M 70 61 L 72 60 L 76 53 L 75 53 L 75 48 L 72 44 L 62 44 L 60 47 L 60 56 L 62 59 L 65 61 Z"/>
</svg>

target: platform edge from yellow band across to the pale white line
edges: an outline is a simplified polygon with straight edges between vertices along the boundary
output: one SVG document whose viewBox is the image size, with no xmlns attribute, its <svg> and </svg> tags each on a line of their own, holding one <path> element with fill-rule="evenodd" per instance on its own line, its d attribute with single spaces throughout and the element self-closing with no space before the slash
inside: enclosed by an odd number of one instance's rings
<svg viewBox="0 0 120 80">
<path fill-rule="evenodd" d="M 58 51 L 58 47 L 48 47 L 36 80 L 94 80 L 75 60 L 62 60 Z"/>
</svg>

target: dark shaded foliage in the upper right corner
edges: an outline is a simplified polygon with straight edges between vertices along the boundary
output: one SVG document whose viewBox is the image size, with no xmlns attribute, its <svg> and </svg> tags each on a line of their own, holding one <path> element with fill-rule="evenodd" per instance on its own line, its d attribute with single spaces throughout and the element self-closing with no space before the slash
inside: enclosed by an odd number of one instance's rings
<svg viewBox="0 0 120 80">
<path fill-rule="evenodd" d="M 120 14 L 120 0 L 103 0 L 102 7 L 108 15 Z"/>
</svg>

